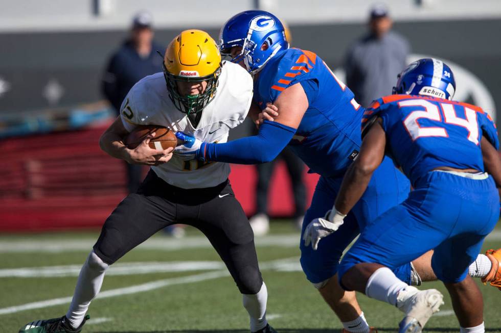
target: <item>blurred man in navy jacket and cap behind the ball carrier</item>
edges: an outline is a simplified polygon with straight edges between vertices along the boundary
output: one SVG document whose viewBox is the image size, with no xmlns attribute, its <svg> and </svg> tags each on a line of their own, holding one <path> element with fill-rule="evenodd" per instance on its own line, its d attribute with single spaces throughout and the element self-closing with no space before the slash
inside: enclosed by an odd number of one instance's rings
<svg viewBox="0 0 501 333">
<path fill-rule="evenodd" d="M 120 106 L 130 88 L 147 75 L 162 71 L 163 58 L 156 54 L 165 48 L 153 41 L 152 17 L 148 12 L 136 14 L 129 37 L 109 60 L 102 80 L 102 92 L 115 109 Z M 142 166 L 127 164 L 127 187 L 135 192 L 142 182 Z"/>
</svg>

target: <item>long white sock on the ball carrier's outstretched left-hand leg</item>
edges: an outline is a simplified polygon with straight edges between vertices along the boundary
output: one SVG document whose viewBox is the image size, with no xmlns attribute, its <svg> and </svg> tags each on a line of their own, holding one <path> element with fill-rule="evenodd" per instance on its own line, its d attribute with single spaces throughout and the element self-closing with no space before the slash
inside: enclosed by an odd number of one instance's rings
<svg viewBox="0 0 501 333">
<path fill-rule="evenodd" d="M 94 251 L 91 251 L 78 275 L 77 286 L 66 313 L 66 318 L 73 328 L 77 328 L 83 321 L 89 308 L 90 301 L 96 297 L 103 284 L 104 272 L 109 267 Z"/>
</svg>

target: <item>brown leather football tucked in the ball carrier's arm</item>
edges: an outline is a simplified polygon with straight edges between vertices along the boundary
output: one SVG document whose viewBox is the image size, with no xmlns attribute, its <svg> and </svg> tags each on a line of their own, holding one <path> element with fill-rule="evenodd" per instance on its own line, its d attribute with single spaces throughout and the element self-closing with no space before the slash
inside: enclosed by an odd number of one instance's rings
<svg viewBox="0 0 501 333">
<path fill-rule="evenodd" d="M 129 149 L 134 149 L 143 142 L 146 137 L 155 132 L 155 137 L 150 140 L 149 146 L 152 149 L 164 150 L 169 147 L 177 146 L 177 138 L 171 130 L 164 126 L 142 125 L 130 132 L 125 137 L 125 145 Z"/>
</svg>

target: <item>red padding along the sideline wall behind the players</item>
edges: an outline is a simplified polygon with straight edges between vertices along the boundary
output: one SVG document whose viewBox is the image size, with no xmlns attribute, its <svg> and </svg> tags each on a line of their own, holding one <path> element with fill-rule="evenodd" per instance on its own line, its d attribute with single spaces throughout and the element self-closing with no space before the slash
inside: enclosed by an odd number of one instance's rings
<svg viewBox="0 0 501 333">
<path fill-rule="evenodd" d="M 0 231 L 37 231 L 102 225 L 126 195 L 122 161 L 98 145 L 106 125 L 0 141 Z M 308 203 L 318 175 L 305 176 Z M 232 165 L 233 189 L 247 214 L 255 209 L 254 166 Z M 293 213 L 285 165 L 272 176 L 271 216 Z"/>
</svg>

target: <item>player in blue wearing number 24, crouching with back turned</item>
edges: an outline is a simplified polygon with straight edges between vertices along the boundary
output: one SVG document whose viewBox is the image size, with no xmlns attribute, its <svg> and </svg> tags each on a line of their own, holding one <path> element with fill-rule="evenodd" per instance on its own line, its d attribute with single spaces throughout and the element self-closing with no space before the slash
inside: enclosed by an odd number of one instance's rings
<svg viewBox="0 0 501 333">
<path fill-rule="evenodd" d="M 468 267 L 499 218 L 499 142 L 492 119 L 479 107 L 452 101 L 454 90 L 442 61 L 409 65 L 396 94 L 365 111 L 360 152 L 333 207 L 339 216 L 356 207 L 385 155 L 411 181 L 408 198 L 362 230 L 338 269 L 345 290 L 405 313 L 400 333 L 421 332 L 443 304 L 438 290 L 419 291 L 392 272 L 431 249 L 432 269 L 449 291 L 461 332 L 485 331 L 482 294 Z"/>
</svg>

